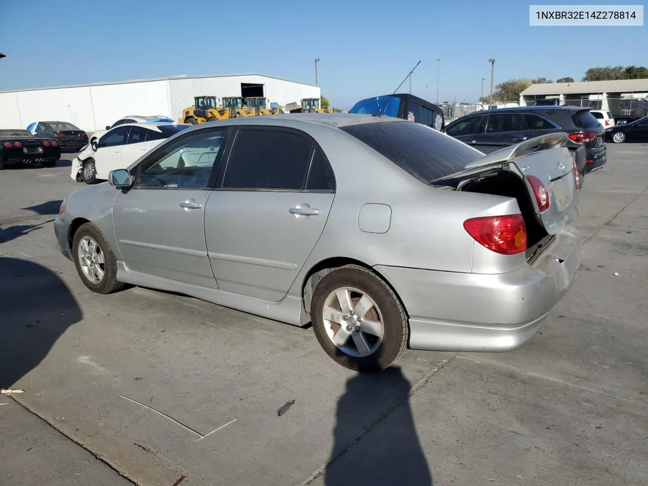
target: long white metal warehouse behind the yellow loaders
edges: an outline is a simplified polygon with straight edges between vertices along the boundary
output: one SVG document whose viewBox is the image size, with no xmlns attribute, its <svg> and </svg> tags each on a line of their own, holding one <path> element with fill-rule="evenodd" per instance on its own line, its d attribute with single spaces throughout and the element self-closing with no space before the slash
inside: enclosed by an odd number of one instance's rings
<svg viewBox="0 0 648 486">
<path fill-rule="evenodd" d="M 0 91 L 0 128 L 39 120 L 67 121 L 94 132 L 126 115 L 181 116 L 194 97 L 265 97 L 285 106 L 320 98 L 319 86 L 262 75 L 169 76 L 113 83 Z"/>
</svg>

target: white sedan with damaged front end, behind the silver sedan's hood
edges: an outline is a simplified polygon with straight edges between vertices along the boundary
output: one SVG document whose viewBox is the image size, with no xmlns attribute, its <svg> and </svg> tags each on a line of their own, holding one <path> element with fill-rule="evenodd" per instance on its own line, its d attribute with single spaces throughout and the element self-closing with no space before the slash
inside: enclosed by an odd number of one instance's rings
<svg viewBox="0 0 648 486">
<path fill-rule="evenodd" d="M 86 184 L 107 180 L 111 170 L 128 167 L 154 146 L 190 126 L 175 122 L 115 126 L 82 148 L 72 161 L 70 177 Z"/>
</svg>

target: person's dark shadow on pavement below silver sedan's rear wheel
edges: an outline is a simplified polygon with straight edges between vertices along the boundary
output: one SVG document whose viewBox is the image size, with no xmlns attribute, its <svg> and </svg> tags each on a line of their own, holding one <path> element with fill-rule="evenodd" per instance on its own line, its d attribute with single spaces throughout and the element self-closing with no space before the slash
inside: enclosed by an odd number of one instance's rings
<svg viewBox="0 0 648 486">
<path fill-rule="evenodd" d="M 410 389 L 410 382 L 396 366 L 349 378 L 338 402 L 325 485 L 432 486 L 432 474 L 411 415 Z M 362 424 L 386 391 L 398 405 L 367 431 Z M 350 441 L 349 432 L 357 434 L 359 428 L 364 432 Z"/>
</svg>

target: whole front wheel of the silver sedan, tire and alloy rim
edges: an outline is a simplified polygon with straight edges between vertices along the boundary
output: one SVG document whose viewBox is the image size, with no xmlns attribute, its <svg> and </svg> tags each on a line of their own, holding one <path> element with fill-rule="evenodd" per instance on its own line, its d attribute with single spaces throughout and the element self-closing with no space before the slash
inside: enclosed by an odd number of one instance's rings
<svg viewBox="0 0 648 486">
<path fill-rule="evenodd" d="M 124 287 L 117 281 L 117 260 L 99 229 L 86 223 L 76 230 L 72 242 L 76 273 L 84 285 L 97 294 L 111 294 Z"/>
</svg>

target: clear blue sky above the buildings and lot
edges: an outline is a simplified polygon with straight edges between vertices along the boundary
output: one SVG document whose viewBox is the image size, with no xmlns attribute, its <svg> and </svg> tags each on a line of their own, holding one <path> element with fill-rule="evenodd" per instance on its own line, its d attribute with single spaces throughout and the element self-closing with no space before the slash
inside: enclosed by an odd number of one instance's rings
<svg viewBox="0 0 648 486">
<path fill-rule="evenodd" d="M 577 1 L 0 0 L 0 89 L 253 72 L 314 82 L 319 57 L 322 94 L 350 108 L 419 60 L 412 93 L 434 102 L 437 57 L 439 97 L 457 101 L 476 100 L 481 78 L 487 93 L 489 58 L 494 84 L 648 65 L 648 27 L 529 27 L 529 3 Z"/>
</svg>

